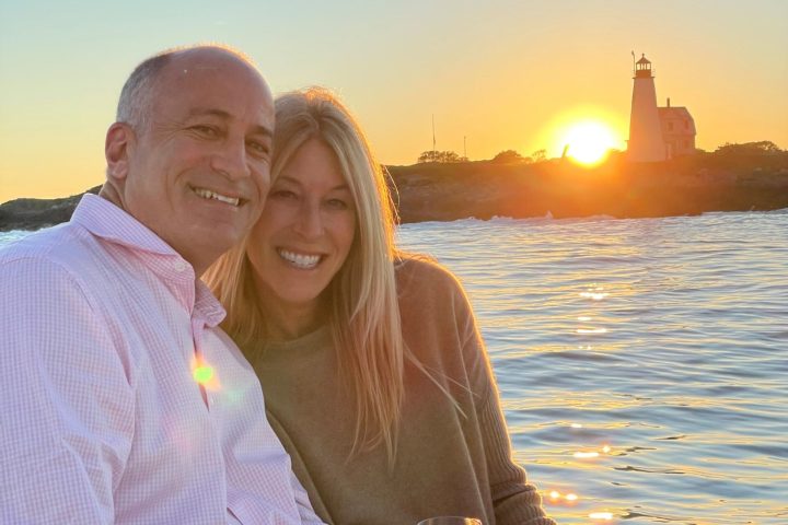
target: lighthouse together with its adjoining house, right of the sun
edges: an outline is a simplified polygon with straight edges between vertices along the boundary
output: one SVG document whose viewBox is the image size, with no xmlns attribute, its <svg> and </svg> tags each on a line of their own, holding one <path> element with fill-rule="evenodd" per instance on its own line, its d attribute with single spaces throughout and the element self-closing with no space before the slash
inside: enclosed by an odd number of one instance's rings
<svg viewBox="0 0 788 525">
<path fill-rule="evenodd" d="M 633 54 L 633 60 L 634 60 Z M 659 162 L 695 153 L 695 120 L 686 107 L 657 107 L 651 62 L 642 55 L 635 62 L 627 158 L 633 162 Z"/>
</svg>

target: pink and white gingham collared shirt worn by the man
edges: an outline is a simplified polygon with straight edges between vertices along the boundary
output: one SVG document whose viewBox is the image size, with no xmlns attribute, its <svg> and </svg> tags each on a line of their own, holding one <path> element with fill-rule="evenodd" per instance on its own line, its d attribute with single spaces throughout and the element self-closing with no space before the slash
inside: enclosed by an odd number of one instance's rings
<svg viewBox="0 0 788 525">
<path fill-rule="evenodd" d="M 223 317 L 93 195 L 0 250 L 0 523 L 321 523 Z"/>
</svg>

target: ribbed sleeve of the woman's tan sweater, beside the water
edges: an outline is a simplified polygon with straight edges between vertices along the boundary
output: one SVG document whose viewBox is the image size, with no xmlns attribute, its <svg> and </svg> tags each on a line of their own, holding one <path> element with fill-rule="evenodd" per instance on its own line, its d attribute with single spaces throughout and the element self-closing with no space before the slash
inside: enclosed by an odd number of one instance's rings
<svg viewBox="0 0 788 525">
<path fill-rule="evenodd" d="M 498 387 L 484 341 L 467 298 L 461 295 L 456 312 L 464 328 L 463 355 L 471 387 L 477 399 L 476 413 L 482 432 L 490 495 L 498 525 L 555 525 L 542 509 L 536 487 L 528 482 L 525 471 L 511 457 L 511 442 L 500 407 Z"/>
</svg>

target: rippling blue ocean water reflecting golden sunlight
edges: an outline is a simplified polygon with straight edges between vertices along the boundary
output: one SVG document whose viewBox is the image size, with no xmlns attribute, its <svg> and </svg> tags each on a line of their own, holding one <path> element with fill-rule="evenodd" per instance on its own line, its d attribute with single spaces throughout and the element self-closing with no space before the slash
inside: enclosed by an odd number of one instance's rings
<svg viewBox="0 0 788 525">
<path fill-rule="evenodd" d="M 397 237 L 464 283 L 559 523 L 788 524 L 788 210 Z"/>
</svg>

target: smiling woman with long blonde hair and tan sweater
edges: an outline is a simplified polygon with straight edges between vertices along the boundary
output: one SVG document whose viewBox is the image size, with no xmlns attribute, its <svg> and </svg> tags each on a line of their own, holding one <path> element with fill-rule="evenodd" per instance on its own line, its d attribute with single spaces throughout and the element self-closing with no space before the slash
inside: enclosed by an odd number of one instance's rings
<svg viewBox="0 0 788 525">
<path fill-rule="evenodd" d="M 352 117 L 311 89 L 277 98 L 276 122 L 263 215 L 206 280 L 317 514 L 553 523 L 510 459 L 467 299 L 395 249 L 389 189 Z"/>
</svg>

